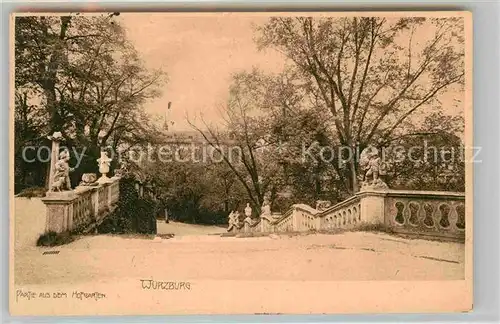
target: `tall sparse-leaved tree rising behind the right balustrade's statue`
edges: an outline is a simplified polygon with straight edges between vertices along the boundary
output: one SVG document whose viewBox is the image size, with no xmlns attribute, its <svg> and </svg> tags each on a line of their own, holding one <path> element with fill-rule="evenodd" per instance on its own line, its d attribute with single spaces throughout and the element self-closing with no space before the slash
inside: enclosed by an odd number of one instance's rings
<svg viewBox="0 0 500 324">
<path fill-rule="evenodd" d="M 415 111 L 461 86 L 462 31 L 460 18 L 273 17 L 259 28 L 258 42 L 284 53 L 302 73 L 312 97 L 331 113 L 336 141 L 362 149 L 404 133 Z M 350 159 L 346 167 L 355 192 L 357 163 Z"/>
</svg>

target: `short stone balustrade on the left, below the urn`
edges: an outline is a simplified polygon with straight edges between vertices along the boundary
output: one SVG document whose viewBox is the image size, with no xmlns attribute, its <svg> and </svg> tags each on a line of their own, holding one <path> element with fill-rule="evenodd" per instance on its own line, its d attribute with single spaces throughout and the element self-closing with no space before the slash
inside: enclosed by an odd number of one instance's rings
<svg viewBox="0 0 500 324">
<path fill-rule="evenodd" d="M 108 183 L 48 192 L 42 199 L 47 208 L 45 231 L 85 233 L 97 227 L 118 203 L 119 181 L 119 177 L 113 177 Z"/>
</svg>

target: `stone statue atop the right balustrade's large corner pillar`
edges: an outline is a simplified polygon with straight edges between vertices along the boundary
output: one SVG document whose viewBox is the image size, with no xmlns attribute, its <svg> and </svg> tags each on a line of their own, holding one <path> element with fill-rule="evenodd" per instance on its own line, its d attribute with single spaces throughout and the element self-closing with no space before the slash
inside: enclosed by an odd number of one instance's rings
<svg viewBox="0 0 500 324">
<path fill-rule="evenodd" d="M 361 189 L 386 189 L 387 184 L 380 178 L 386 174 L 377 148 L 368 146 L 361 152 L 359 166 L 365 172 Z"/>
</svg>

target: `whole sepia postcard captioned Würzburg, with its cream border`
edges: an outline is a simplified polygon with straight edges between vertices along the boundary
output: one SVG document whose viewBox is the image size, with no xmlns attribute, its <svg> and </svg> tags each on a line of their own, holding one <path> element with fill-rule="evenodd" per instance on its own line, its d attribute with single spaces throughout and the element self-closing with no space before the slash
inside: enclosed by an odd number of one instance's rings
<svg viewBox="0 0 500 324">
<path fill-rule="evenodd" d="M 10 32 L 11 315 L 472 309 L 470 12 Z"/>
</svg>

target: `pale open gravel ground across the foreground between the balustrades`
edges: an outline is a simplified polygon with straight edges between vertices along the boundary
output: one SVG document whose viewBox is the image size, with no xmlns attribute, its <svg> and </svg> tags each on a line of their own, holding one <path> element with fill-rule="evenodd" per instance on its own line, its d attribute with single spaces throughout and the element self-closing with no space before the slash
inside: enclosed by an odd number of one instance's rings
<svg viewBox="0 0 500 324">
<path fill-rule="evenodd" d="M 42 253 L 57 250 L 58 254 Z M 86 236 L 15 253 L 16 284 L 165 280 L 443 280 L 464 278 L 464 245 L 351 232 L 170 239 Z"/>
</svg>

